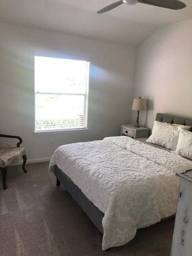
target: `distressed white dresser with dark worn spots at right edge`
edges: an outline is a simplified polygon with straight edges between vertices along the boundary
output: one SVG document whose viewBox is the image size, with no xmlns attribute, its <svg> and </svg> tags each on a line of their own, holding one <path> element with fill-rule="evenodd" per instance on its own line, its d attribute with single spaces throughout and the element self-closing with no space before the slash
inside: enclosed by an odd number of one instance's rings
<svg viewBox="0 0 192 256">
<path fill-rule="evenodd" d="M 171 256 L 192 256 L 192 170 L 177 175 L 181 183 Z"/>
</svg>

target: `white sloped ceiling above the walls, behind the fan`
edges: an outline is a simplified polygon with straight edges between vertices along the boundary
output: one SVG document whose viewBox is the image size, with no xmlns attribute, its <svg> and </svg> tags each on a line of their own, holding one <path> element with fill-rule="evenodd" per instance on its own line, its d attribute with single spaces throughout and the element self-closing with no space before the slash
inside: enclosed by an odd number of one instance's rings
<svg viewBox="0 0 192 256">
<path fill-rule="evenodd" d="M 0 22 L 75 34 L 106 42 L 140 44 L 156 28 L 192 18 L 192 0 L 182 10 L 136 4 L 104 14 L 117 0 L 0 0 Z"/>
</svg>

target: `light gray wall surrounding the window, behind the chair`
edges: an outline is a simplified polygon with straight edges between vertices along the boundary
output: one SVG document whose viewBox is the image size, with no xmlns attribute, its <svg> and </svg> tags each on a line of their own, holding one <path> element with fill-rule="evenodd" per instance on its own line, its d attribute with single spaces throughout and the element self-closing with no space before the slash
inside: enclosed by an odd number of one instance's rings
<svg viewBox="0 0 192 256">
<path fill-rule="evenodd" d="M 88 132 L 33 135 L 35 54 L 91 58 Z M 134 68 L 132 46 L 0 24 L 0 133 L 21 136 L 30 160 L 51 157 L 61 144 L 119 135 L 130 122 Z"/>
</svg>

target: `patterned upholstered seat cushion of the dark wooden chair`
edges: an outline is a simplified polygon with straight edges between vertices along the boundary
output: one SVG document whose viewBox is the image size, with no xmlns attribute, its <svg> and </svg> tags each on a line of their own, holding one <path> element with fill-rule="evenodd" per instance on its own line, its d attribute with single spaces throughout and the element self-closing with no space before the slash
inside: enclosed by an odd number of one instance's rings
<svg viewBox="0 0 192 256">
<path fill-rule="evenodd" d="M 0 148 L 0 167 L 18 162 L 25 154 L 25 148 Z"/>
</svg>

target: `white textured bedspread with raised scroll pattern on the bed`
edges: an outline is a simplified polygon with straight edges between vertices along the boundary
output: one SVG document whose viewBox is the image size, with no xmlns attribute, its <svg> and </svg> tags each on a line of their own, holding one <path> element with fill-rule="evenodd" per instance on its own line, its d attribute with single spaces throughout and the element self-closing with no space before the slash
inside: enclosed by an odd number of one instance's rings
<svg viewBox="0 0 192 256">
<path fill-rule="evenodd" d="M 57 165 L 104 213 L 102 250 L 126 244 L 143 228 L 176 212 L 176 173 L 192 162 L 126 136 L 60 146 Z"/>
</svg>

